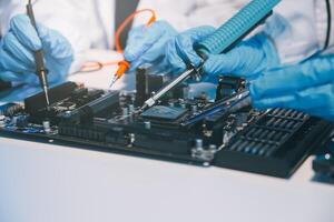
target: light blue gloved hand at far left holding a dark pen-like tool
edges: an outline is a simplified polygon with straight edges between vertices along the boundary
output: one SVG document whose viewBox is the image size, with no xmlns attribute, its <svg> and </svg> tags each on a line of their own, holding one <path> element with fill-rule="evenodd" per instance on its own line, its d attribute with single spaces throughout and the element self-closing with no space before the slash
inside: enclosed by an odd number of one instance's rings
<svg viewBox="0 0 334 222">
<path fill-rule="evenodd" d="M 0 79 L 39 84 L 33 52 L 43 50 L 49 83 L 63 81 L 73 60 L 70 43 L 59 32 L 38 24 L 38 33 L 24 14 L 10 21 L 10 30 L 0 42 Z"/>
</svg>

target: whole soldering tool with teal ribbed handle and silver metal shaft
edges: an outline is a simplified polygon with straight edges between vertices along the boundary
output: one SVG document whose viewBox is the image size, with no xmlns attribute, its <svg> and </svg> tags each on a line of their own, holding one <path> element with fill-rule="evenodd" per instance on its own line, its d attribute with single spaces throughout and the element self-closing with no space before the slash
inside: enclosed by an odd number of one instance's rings
<svg viewBox="0 0 334 222">
<path fill-rule="evenodd" d="M 273 13 L 274 7 L 276 7 L 279 2 L 281 0 L 253 0 L 240 11 L 238 11 L 232 19 L 219 27 L 212 36 L 207 37 L 200 42 L 195 43 L 195 50 L 203 59 L 203 63 L 198 68 L 191 67 L 186 72 L 173 80 L 169 84 L 155 93 L 144 103 L 140 111 L 153 107 L 169 90 L 186 81 L 193 74 L 200 73 L 202 67 L 209 54 L 226 53 L 232 50 L 259 24 L 264 23 L 265 20 Z M 248 101 L 250 102 L 250 100 Z"/>
</svg>

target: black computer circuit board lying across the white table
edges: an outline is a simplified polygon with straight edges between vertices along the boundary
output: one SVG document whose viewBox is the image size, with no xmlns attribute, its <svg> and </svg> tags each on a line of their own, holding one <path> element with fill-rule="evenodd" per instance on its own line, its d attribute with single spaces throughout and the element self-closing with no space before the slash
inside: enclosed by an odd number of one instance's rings
<svg viewBox="0 0 334 222">
<path fill-rule="evenodd" d="M 59 93 L 61 92 L 61 93 Z M 24 104 L 0 107 L 0 132 L 38 141 L 288 178 L 326 142 L 332 125 L 294 110 L 215 113 L 194 124 L 214 102 L 169 98 L 139 112 L 135 92 L 87 89 L 67 82 Z M 143 98 L 141 98 L 143 99 Z"/>
</svg>

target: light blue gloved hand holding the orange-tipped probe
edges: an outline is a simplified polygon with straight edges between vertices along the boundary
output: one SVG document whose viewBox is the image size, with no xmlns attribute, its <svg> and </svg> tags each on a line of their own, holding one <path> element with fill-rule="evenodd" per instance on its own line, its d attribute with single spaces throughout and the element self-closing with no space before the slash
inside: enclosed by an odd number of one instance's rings
<svg viewBox="0 0 334 222">
<path fill-rule="evenodd" d="M 166 21 L 156 21 L 150 27 L 140 26 L 129 32 L 125 59 L 131 63 L 130 71 L 145 64 L 157 64 L 164 57 L 166 42 L 178 32 Z"/>
</svg>

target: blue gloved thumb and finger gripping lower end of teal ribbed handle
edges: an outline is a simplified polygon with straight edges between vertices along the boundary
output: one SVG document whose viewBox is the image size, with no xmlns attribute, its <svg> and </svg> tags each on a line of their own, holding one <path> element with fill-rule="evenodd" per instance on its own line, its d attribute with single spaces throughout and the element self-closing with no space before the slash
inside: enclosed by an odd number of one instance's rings
<svg viewBox="0 0 334 222">
<path fill-rule="evenodd" d="M 203 60 L 195 51 L 194 44 L 214 31 L 215 28 L 205 26 L 190 29 L 177 36 L 175 40 L 175 49 L 178 57 L 180 57 L 186 64 L 191 63 L 195 67 L 199 67 Z"/>
</svg>

